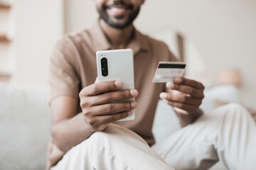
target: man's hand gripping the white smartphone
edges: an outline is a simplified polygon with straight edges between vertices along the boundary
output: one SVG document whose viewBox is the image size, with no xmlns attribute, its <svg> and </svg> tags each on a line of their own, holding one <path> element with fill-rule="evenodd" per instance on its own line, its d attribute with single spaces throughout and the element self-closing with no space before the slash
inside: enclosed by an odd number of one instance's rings
<svg viewBox="0 0 256 170">
<path fill-rule="evenodd" d="M 135 98 L 135 89 L 119 90 L 121 81 L 105 81 L 85 87 L 80 91 L 80 106 L 87 123 L 92 130 L 102 131 L 107 124 L 113 123 L 132 114 L 137 102 L 111 103 L 127 98 Z"/>
</svg>

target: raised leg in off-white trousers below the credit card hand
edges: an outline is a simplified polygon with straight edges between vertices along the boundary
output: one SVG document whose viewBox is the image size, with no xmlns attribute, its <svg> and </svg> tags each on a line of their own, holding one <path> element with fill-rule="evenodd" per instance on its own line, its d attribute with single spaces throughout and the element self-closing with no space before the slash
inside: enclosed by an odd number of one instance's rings
<svg viewBox="0 0 256 170">
<path fill-rule="evenodd" d="M 208 169 L 218 160 L 228 169 L 256 169 L 256 124 L 245 108 L 231 103 L 152 149 L 174 169 Z"/>
</svg>

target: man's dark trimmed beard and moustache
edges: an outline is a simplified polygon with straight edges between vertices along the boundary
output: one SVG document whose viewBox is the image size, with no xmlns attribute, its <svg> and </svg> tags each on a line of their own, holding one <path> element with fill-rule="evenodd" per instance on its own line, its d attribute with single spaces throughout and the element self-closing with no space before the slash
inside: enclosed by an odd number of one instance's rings
<svg viewBox="0 0 256 170">
<path fill-rule="evenodd" d="M 110 6 L 114 6 L 114 5 L 122 5 L 125 6 L 126 8 L 129 8 L 131 10 L 131 13 L 129 13 L 129 15 L 127 16 L 127 19 L 122 22 L 122 23 L 115 23 L 114 21 L 111 20 L 110 16 L 107 14 L 107 8 L 109 8 Z M 133 10 L 134 6 L 131 4 L 125 4 L 124 1 L 118 1 L 118 2 L 114 2 L 111 5 L 104 5 L 102 6 L 102 8 L 97 8 L 98 13 L 100 14 L 100 18 L 103 19 L 103 21 L 105 21 L 105 23 L 107 23 L 107 25 L 113 27 L 113 28 L 117 28 L 117 29 L 122 29 L 122 28 L 126 28 L 127 26 L 131 25 L 134 21 L 135 18 L 137 18 L 139 11 L 140 11 L 140 6 Z M 122 19 L 125 16 L 115 16 L 114 18 L 118 19 Z"/>
</svg>

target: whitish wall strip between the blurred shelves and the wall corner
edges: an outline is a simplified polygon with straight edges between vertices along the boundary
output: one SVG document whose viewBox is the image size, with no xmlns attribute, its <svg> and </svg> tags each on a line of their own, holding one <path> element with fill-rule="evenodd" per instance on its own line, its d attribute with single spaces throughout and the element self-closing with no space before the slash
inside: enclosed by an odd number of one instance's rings
<svg viewBox="0 0 256 170">
<path fill-rule="evenodd" d="M 47 86 L 50 51 L 63 36 L 63 1 L 18 0 L 15 5 L 15 84 Z"/>
</svg>

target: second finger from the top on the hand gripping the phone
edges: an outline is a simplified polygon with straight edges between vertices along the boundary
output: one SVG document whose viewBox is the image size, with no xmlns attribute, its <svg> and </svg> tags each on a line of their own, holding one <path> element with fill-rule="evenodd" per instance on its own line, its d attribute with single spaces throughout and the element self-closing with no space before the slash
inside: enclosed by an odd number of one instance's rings
<svg viewBox="0 0 256 170">
<path fill-rule="evenodd" d="M 138 96 L 138 91 L 135 89 L 122 90 L 122 91 L 110 91 L 97 96 L 90 97 L 92 105 L 101 105 L 110 103 L 112 101 L 120 101 L 128 98 L 135 98 Z"/>
</svg>

